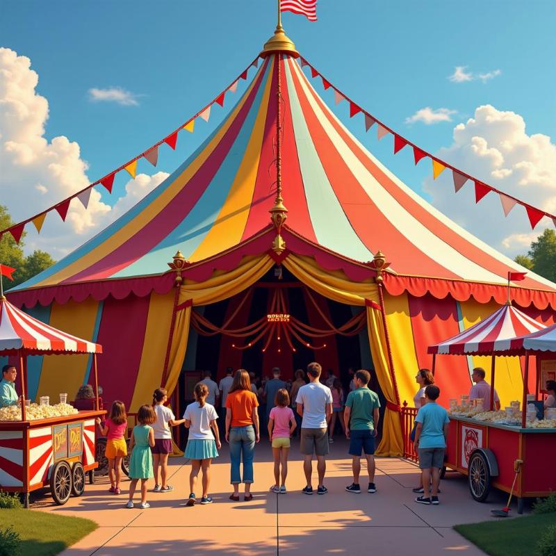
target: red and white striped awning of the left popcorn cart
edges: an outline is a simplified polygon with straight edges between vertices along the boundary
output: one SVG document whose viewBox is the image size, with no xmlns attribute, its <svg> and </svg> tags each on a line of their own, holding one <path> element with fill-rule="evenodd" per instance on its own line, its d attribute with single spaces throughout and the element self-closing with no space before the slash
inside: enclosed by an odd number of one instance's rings
<svg viewBox="0 0 556 556">
<path fill-rule="evenodd" d="M 102 346 L 45 325 L 0 299 L 0 354 L 102 353 Z"/>
</svg>

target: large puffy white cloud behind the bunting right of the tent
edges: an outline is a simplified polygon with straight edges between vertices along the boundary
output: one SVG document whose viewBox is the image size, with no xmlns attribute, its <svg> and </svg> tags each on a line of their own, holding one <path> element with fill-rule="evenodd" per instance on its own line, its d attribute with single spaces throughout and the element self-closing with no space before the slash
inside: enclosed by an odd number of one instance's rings
<svg viewBox="0 0 556 556">
<path fill-rule="evenodd" d="M 472 118 L 455 126 L 452 145 L 436 156 L 532 206 L 556 212 L 556 145 L 541 133 L 528 135 L 519 114 L 479 106 Z M 467 181 L 456 194 L 448 170 L 436 181 L 427 178 L 424 188 L 445 215 L 512 257 L 525 253 L 530 240 L 554 225 L 543 218 L 531 231 L 523 206 L 505 218 L 496 193 L 475 204 L 473 183 Z"/>
</svg>

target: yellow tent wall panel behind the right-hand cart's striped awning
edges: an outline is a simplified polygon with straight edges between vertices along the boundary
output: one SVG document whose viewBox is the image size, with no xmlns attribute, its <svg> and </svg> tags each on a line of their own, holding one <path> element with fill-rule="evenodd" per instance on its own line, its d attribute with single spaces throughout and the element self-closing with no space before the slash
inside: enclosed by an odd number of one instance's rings
<svg viewBox="0 0 556 556">
<path fill-rule="evenodd" d="M 460 303 L 461 317 L 467 329 L 500 309 L 500 305 L 490 302 L 480 304 L 473 299 Z M 439 356 L 449 357 L 449 356 Z M 463 357 L 463 356 L 452 356 Z M 473 355 L 473 366 L 482 367 L 486 371 L 486 382 L 490 382 L 491 357 L 489 355 Z M 511 400 L 521 400 L 523 396 L 523 375 L 519 357 L 496 357 L 494 388 L 500 396 L 502 407 L 509 405 Z"/>
</svg>

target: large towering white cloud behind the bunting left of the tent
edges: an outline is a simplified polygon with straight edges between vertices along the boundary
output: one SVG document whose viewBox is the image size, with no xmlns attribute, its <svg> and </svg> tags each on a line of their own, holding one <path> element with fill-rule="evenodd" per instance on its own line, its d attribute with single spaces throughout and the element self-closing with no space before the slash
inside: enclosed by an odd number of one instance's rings
<svg viewBox="0 0 556 556">
<path fill-rule="evenodd" d="M 79 144 L 64 136 L 44 137 L 48 101 L 36 91 L 38 74 L 31 60 L 0 48 L 0 203 L 19 222 L 69 197 L 90 183 L 88 164 Z M 111 207 L 102 188 L 93 188 L 87 210 L 72 200 L 66 222 L 48 213 L 40 235 L 27 224 L 25 250 L 42 249 L 54 258 L 72 251 L 122 215 L 167 176 L 139 174 L 126 184 L 126 193 Z"/>
</svg>

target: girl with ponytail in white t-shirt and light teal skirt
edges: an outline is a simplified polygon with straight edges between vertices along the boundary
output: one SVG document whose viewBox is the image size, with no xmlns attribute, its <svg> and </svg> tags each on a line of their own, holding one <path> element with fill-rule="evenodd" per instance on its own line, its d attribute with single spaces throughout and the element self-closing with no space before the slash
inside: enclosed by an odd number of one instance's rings
<svg viewBox="0 0 556 556">
<path fill-rule="evenodd" d="M 202 504 L 212 504 L 213 499 L 208 496 L 208 484 L 211 482 L 211 461 L 213 457 L 218 457 L 218 450 L 221 448 L 220 436 L 216 420 L 218 415 L 211 404 L 206 403 L 208 388 L 206 384 L 198 382 L 195 385 L 195 402 L 186 407 L 183 418 L 186 428 L 189 429 L 189 438 L 186 446 L 185 456 L 191 460 L 191 473 L 189 475 L 190 495 L 187 501 L 188 506 L 195 505 L 195 482 L 199 469 L 203 470 L 203 496 Z M 211 428 L 214 433 L 211 434 Z"/>
</svg>

